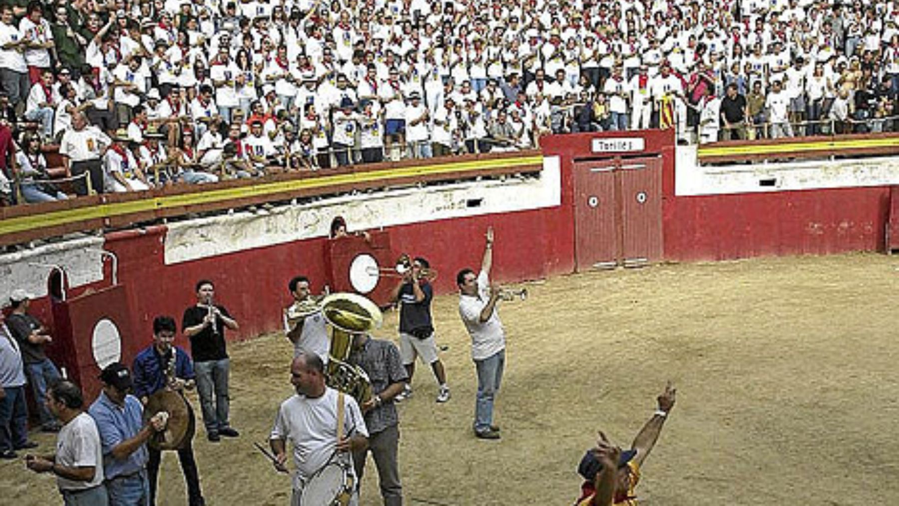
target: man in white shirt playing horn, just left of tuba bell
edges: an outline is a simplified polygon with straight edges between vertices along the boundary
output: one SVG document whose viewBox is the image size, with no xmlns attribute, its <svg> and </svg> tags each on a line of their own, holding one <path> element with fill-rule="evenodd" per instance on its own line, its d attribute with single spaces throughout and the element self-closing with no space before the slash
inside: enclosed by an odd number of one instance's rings
<svg viewBox="0 0 899 506">
<path fill-rule="evenodd" d="M 294 302 L 284 312 L 284 333 L 293 343 L 293 356 L 297 357 L 303 350 L 312 351 L 327 366 L 331 342 L 325 316 L 309 289 L 309 279 L 297 276 L 290 280 L 288 289 Z"/>
</svg>

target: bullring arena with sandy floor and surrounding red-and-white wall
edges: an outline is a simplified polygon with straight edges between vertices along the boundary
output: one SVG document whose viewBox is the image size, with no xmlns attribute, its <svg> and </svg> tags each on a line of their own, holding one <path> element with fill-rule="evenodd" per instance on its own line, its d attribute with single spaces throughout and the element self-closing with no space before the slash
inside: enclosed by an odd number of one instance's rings
<svg viewBox="0 0 899 506">
<path fill-rule="evenodd" d="M 33 241 L 0 257 L 0 285 L 35 295 L 32 313 L 58 337 L 49 353 L 93 399 L 103 363 L 129 363 L 155 315 L 180 315 L 195 280 L 215 281 L 241 321 L 229 352 L 242 434 L 213 444 L 197 431 L 209 504 L 289 501 L 288 478 L 253 446 L 291 394 L 279 331 L 287 281 L 306 273 L 316 293 L 368 290 L 380 304 L 395 281 L 358 289 L 353 272 L 360 258 L 390 271 L 398 253 L 439 271 L 433 315 L 452 388 L 435 403 L 420 366 L 416 394 L 399 405 L 405 503 L 571 504 L 596 431 L 627 446 L 671 380 L 678 401 L 637 487 L 644 503 L 888 504 L 899 497 L 899 263 L 883 254 L 899 237 L 895 143 L 698 149 L 676 146 L 670 130 L 553 136 L 540 152 L 0 209 L 6 244 Z M 338 215 L 369 237 L 328 238 Z M 530 293 L 501 303 L 498 441 L 471 431 L 476 381 L 455 293 L 488 226 L 494 279 Z M 374 335 L 396 340 L 396 312 Z M 52 435 L 31 438 L 52 448 Z M 0 469 L 4 499 L 58 502 L 53 480 L 21 458 Z M 367 467 L 360 504 L 380 503 L 375 475 Z M 184 496 L 165 453 L 157 503 Z"/>
</svg>

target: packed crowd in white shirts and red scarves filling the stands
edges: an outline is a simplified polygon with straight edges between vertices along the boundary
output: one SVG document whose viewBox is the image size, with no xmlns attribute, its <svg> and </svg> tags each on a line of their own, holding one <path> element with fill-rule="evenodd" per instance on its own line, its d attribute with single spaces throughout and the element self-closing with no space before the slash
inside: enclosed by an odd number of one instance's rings
<svg viewBox="0 0 899 506">
<path fill-rule="evenodd" d="M 28 201 L 64 196 L 42 182 L 45 143 L 85 193 L 548 133 L 896 126 L 896 0 L 7 0 L 0 14 L 0 168 Z"/>
</svg>

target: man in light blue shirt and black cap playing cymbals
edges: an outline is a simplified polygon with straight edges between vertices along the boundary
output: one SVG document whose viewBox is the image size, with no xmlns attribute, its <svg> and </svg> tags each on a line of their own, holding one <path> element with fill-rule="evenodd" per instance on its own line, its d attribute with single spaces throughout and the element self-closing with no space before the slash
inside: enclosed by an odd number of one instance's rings
<svg viewBox="0 0 899 506">
<path fill-rule="evenodd" d="M 110 506 L 146 506 L 147 439 L 165 429 L 165 416 L 157 414 L 144 425 L 144 407 L 128 392 L 133 386 L 128 368 L 113 362 L 100 374 L 103 389 L 88 413 L 97 423 L 103 450 L 103 475 Z"/>
</svg>

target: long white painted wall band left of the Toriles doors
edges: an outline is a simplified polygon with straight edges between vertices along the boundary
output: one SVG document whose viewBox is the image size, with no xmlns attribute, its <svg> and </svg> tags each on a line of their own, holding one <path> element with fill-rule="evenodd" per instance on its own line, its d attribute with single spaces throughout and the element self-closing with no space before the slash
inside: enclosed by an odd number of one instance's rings
<svg viewBox="0 0 899 506">
<path fill-rule="evenodd" d="M 343 216 L 352 230 L 370 230 L 557 207 L 562 200 L 561 184 L 559 157 L 547 156 L 539 177 L 360 192 L 255 213 L 241 211 L 175 222 L 168 225 L 165 235 L 165 264 L 325 237 L 336 216 Z"/>
</svg>

